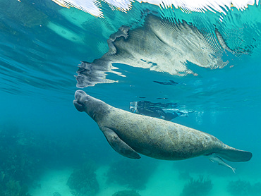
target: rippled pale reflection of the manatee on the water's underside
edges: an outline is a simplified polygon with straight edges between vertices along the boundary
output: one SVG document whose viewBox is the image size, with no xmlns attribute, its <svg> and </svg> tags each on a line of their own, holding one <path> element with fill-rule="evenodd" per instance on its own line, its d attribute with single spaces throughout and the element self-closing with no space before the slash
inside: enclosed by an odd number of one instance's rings
<svg viewBox="0 0 261 196">
<path fill-rule="evenodd" d="M 214 35 L 202 33 L 185 21 L 175 24 L 153 15 L 146 16 L 142 27 L 130 30 L 121 26 L 107 42 L 109 51 L 100 59 L 81 63 L 77 87 L 115 82 L 106 78 L 107 72 L 124 76 L 116 71 L 113 63 L 181 76 L 197 75 L 188 68 L 188 62 L 212 69 L 223 68 L 228 63 L 221 56 L 229 48 L 217 30 Z"/>
</svg>

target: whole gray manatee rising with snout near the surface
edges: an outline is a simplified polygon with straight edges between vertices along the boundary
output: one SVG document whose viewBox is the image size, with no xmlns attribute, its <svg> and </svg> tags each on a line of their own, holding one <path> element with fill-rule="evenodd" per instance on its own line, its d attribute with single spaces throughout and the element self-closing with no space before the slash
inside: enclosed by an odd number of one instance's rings
<svg viewBox="0 0 261 196">
<path fill-rule="evenodd" d="M 249 161 L 252 157 L 252 153 L 229 147 L 210 134 L 117 109 L 82 90 L 75 92 L 73 104 L 78 111 L 92 117 L 111 147 L 125 157 L 139 159 L 138 153 L 165 160 L 209 154 L 218 154 L 229 161 Z"/>
</svg>

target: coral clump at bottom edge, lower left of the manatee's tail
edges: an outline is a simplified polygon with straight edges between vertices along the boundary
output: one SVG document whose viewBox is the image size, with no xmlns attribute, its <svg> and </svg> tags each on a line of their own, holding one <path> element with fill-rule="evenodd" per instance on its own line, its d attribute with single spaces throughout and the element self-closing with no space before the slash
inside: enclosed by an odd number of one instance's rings
<svg viewBox="0 0 261 196">
<path fill-rule="evenodd" d="M 207 195 L 212 190 L 212 182 L 200 176 L 198 180 L 191 178 L 183 188 L 181 196 L 202 196 Z"/>
</svg>

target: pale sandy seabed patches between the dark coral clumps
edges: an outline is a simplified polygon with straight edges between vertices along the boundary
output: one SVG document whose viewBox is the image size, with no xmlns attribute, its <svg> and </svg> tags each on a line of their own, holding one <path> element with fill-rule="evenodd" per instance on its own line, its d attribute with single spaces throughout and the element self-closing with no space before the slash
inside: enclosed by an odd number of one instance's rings
<svg viewBox="0 0 261 196">
<path fill-rule="evenodd" d="M 132 190 L 127 186 L 118 185 L 116 183 L 108 185 L 106 183 L 107 177 L 105 175 L 108 169 L 109 166 L 102 166 L 96 171 L 97 180 L 99 182 L 99 192 L 96 196 L 111 196 L 117 191 Z M 59 192 L 61 196 L 73 196 L 70 188 L 66 185 L 72 172 L 72 168 L 47 171 L 38 182 L 40 186 L 32 188 L 30 194 L 32 196 L 53 196 L 54 192 Z M 173 164 L 170 162 L 162 162 L 150 177 L 145 190 L 138 190 L 138 193 L 140 193 L 141 196 L 179 196 L 187 180 L 179 179 L 178 175 L 179 171 L 174 168 Z M 195 176 L 191 174 L 191 176 L 198 178 L 198 174 Z M 207 174 L 204 176 L 207 176 Z M 238 180 L 238 176 L 231 174 L 231 177 L 229 178 L 227 176 L 226 178 L 219 176 L 210 177 L 213 188 L 208 196 L 231 196 L 226 192 L 226 185 L 231 180 Z"/>
</svg>

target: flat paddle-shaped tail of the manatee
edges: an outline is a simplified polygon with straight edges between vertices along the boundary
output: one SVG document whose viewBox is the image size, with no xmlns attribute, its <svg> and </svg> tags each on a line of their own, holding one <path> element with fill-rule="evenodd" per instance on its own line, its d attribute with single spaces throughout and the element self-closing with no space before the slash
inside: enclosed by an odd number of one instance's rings
<svg viewBox="0 0 261 196">
<path fill-rule="evenodd" d="M 235 149 L 229 146 L 221 149 L 217 154 L 219 157 L 233 162 L 249 161 L 252 158 L 251 152 Z"/>
</svg>

